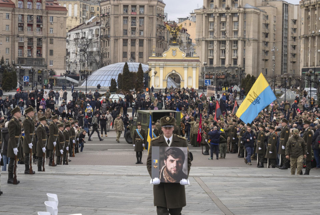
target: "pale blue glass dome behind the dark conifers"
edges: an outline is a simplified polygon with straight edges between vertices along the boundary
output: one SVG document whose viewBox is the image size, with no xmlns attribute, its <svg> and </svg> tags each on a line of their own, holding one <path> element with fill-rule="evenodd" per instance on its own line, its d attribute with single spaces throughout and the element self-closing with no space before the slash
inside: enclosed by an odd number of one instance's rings
<svg viewBox="0 0 320 215">
<path fill-rule="evenodd" d="M 89 77 L 87 86 L 96 87 L 98 84 L 101 87 L 110 87 L 111 79 L 118 79 L 118 74 L 123 72 L 125 62 L 110 64 L 104 66 L 96 71 L 94 71 Z M 130 72 L 138 72 L 138 67 L 140 63 L 136 63 L 133 61 L 127 62 L 129 66 Z M 146 72 L 149 69 L 148 65 L 141 64 L 143 72 Z M 85 81 L 82 83 L 81 86 L 85 86 Z"/>
</svg>

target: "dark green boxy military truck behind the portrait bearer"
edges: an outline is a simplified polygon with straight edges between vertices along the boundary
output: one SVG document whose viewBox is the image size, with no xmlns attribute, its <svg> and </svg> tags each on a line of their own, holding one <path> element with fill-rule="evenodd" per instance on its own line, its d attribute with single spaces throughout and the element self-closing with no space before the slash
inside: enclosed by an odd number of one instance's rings
<svg viewBox="0 0 320 215">
<path fill-rule="evenodd" d="M 124 135 L 125 141 L 127 143 L 132 144 L 132 135 L 134 129 L 137 129 L 137 122 L 141 122 L 141 128 L 148 133 L 149 123 L 150 123 L 150 115 L 151 121 L 157 122 L 158 119 L 161 119 L 165 116 L 172 116 L 177 120 L 177 126 L 180 129 L 180 119 L 181 115 L 179 111 L 171 111 L 171 110 L 138 110 L 137 117 L 133 118 L 133 122 L 130 126 L 127 127 L 127 132 Z"/>
</svg>

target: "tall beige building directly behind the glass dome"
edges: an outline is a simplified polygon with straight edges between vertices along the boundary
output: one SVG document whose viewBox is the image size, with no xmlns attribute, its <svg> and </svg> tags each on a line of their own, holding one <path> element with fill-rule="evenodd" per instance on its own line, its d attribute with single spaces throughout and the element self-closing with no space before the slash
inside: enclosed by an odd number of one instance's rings
<svg viewBox="0 0 320 215">
<path fill-rule="evenodd" d="M 147 64 L 153 50 L 161 56 L 168 49 L 162 0 L 103 1 L 100 6 L 101 47 L 112 53 L 110 64 L 129 59 Z"/>
</svg>

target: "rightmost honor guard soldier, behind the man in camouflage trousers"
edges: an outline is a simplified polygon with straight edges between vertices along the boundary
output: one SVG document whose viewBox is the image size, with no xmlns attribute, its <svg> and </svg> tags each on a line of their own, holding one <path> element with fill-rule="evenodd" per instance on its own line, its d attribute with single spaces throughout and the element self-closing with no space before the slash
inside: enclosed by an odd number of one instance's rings
<svg viewBox="0 0 320 215">
<path fill-rule="evenodd" d="M 311 161 L 312 161 L 312 131 L 310 129 L 311 122 L 309 120 L 304 120 L 303 128 L 305 129 L 302 133 L 302 138 L 306 142 L 307 145 L 307 158 L 306 158 L 306 171 L 304 175 L 308 175 L 311 169 Z"/>
</svg>

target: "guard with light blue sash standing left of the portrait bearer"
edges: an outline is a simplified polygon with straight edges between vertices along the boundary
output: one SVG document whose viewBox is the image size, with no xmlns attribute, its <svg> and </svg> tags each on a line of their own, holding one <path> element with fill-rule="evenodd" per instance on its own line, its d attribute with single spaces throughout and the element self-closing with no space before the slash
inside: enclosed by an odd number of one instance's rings
<svg viewBox="0 0 320 215">
<path fill-rule="evenodd" d="M 143 164 L 141 162 L 142 159 L 142 151 L 143 147 L 146 143 L 146 132 L 141 128 L 141 122 L 137 123 L 137 129 L 134 130 L 132 136 L 132 142 L 134 151 L 136 152 L 137 162 L 136 164 Z"/>
</svg>

